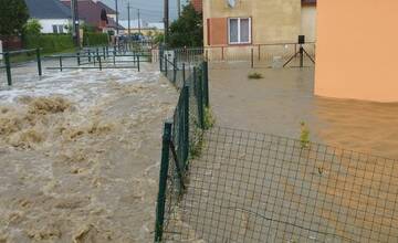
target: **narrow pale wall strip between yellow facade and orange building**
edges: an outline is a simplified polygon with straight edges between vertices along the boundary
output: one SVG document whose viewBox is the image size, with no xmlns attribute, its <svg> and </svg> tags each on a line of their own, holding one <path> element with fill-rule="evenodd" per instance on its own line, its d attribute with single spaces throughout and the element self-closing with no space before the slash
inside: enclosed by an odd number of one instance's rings
<svg viewBox="0 0 398 243">
<path fill-rule="evenodd" d="M 302 7 L 302 27 L 301 34 L 305 35 L 306 42 L 316 41 L 316 7 Z"/>
</svg>

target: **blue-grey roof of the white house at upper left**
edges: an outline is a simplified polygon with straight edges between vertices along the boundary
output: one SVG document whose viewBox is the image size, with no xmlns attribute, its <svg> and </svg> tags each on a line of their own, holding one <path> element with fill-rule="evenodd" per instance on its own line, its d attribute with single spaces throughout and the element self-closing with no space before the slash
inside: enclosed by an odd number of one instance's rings
<svg viewBox="0 0 398 243">
<path fill-rule="evenodd" d="M 71 10 L 59 0 L 24 0 L 30 18 L 33 19 L 71 19 Z"/>
</svg>

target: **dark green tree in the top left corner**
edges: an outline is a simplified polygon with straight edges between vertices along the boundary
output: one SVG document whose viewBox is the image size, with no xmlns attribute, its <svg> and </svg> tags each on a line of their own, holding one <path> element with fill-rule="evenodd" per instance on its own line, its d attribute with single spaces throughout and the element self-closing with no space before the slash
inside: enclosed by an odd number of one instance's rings
<svg viewBox="0 0 398 243">
<path fill-rule="evenodd" d="M 0 35 L 21 34 L 28 19 L 24 0 L 0 0 Z"/>
</svg>

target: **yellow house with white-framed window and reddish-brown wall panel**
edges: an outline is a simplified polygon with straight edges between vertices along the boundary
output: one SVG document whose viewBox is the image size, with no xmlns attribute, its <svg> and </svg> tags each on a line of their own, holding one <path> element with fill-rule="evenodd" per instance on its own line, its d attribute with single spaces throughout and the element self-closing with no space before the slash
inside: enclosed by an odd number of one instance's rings
<svg viewBox="0 0 398 243">
<path fill-rule="evenodd" d="M 191 0 L 202 7 L 205 46 L 315 41 L 315 0 Z"/>
</svg>

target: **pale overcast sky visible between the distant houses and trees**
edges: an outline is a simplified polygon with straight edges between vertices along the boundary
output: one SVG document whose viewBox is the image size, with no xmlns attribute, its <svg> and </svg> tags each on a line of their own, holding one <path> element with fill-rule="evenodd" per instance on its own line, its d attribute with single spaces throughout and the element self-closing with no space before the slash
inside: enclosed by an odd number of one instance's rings
<svg viewBox="0 0 398 243">
<path fill-rule="evenodd" d="M 102 0 L 104 3 L 115 9 L 116 0 Z M 181 4 L 186 4 L 187 0 L 180 0 Z M 121 12 L 119 19 L 127 19 L 127 3 L 135 9 L 130 10 L 132 19 L 137 19 L 137 9 L 140 9 L 140 15 L 146 21 L 163 21 L 164 0 L 117 0 Z M 177 17 L 177 0 L 169 0 L 170 19 Z"/>
</svg>

